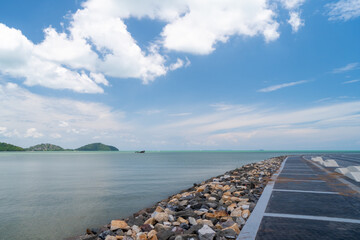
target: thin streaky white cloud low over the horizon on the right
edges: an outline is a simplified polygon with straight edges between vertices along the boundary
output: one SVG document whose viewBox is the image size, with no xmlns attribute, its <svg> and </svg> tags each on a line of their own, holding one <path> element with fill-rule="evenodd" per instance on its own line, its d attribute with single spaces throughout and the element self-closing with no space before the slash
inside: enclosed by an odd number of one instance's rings
<svg viewBox="0 0 360 240">
<path fill-rule="evenodd" d="M 349 148 L 341 144 L 359 138 L 359 112 L 359 101 L 290 111 L 254 108 L 251 112 L 237 113 L 229 109 L 159 125 L 154 131 L 182 137 L 186 142 L 184 147 L 195 149 L 200 146 L 210 149 L 339 149 Z M 171 138 L 167 140 L 171 142 Z"/>
</svg>

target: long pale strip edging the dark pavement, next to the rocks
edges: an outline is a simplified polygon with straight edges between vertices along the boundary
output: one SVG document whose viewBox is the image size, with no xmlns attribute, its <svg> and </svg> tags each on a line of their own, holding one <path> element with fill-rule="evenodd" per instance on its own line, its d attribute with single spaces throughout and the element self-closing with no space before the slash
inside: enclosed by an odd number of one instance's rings
<svg viewBox="0 0 360 240">
<path fill-rule="evenodd" d="M 287 159 L 288 157 L 285 158 L 285 160 L 282 162 L 281 167 L 278 171 L 279 173 L 281 173 L 281 171 L 283 170 Z M 237 240 L 256 238 L 256 234 L 259 230 L 261 219 L 264 216 L 267 204 L 269 202 L 276 178 L 277 176 L 273 174 L 271 180 L 268 182 L 263 193 L 261 194 L 261 197 L 257 202 L 256 207 L 254 208 L 249 219 L 246 221 L 246 224 L 242 228 L 239 236 L 237 237 Z"/>
</svg>

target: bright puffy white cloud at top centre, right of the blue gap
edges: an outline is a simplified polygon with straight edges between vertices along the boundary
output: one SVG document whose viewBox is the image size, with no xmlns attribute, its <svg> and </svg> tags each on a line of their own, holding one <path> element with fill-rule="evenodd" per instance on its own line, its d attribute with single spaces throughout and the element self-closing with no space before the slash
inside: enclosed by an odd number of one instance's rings
<svg viewBox="0 0 360 240">
<path fill-rule="evenodd" d="M 186 1 L 187 11 L 169 22 L 163 32 L 167 49 L 209 54 L 218 42 L 232 35 L 263 35 L 266 41 L 279 37 L 275 13 L 265 0 Z"/>
</svg>

